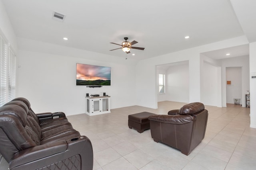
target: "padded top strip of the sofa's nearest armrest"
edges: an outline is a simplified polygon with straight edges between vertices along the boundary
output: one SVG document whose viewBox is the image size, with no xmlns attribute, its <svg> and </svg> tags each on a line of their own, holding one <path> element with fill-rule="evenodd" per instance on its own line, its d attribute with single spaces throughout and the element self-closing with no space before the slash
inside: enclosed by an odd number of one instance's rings
<svg viewBox="0 0 256 170">
<path fill-rule="evenodd" d="M 68 144 L 63 140 L 22 150 L 14 154 L 10 161 L 9 168 L 12 169 L 27 162 L 32 162 L 53 154 L 64 152 L 67 148 Z"/>
</svg>

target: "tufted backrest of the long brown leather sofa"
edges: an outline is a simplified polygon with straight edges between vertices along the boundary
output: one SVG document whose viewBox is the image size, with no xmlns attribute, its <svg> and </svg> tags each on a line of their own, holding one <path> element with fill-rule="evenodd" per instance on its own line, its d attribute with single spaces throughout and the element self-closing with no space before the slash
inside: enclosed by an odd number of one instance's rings
<svg viewBox="0 0 256 170">
<path fill-rule="evenodd" d="M 0 152 L 8 162 L 16 152 L 40 145 L 40 126 L 28 113 L 22 101 L 0 107 Z"/>
</svg>

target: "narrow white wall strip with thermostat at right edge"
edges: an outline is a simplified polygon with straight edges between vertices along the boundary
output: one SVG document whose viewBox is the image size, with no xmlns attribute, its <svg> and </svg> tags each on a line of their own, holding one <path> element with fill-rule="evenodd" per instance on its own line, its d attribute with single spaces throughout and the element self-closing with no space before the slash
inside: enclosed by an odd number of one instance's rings
<svg viewBox="0 0 256 170">
<path fill-rule="evenodd" d="M 250 127 L 256 128 L 256 78 L 252 74 L 256 72 L 256 42 L 250 43 Z"/>
</svg>

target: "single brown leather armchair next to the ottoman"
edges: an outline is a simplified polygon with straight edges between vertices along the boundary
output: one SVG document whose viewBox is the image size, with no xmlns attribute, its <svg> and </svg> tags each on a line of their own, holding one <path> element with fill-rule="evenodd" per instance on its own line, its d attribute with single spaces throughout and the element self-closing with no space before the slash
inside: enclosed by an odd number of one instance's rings
<svg viewBox="0 0 256 170">
<path fill-rule="evenodd" d="M 171 110 L 168 115 L 153 115 L 148 119 L 155 142 L 165 143 L 189 155 L 204 139 L 208 111 L 204 104 L 196 102 Z"/>
</svg>

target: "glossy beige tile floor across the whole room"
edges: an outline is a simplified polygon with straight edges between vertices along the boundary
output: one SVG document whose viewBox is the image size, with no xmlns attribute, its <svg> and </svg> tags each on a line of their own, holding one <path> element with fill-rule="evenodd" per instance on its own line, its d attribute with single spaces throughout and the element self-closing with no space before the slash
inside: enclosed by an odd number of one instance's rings
<svg viewBox="0 0 256 170">
<path fill-rule="evenodd" d="M 104 115 L 72 115 L 68 120 L 92 141 L 94 170 L 256 169 L 256 129 L 249 127 L 250 108 L 234 104 L 223 108 L 206 106 L 209 116 L 205 138 L 189 156 L 155 143 L 150 130 L 138 133 L 128 128 L 130 114 L 142 111 L 167 114 L 184 104 L 159 102 L 158 109 L 122 107 Z M 2 169 L 7 169 L 5 160 L 0 164 Z"/>
</svg>

